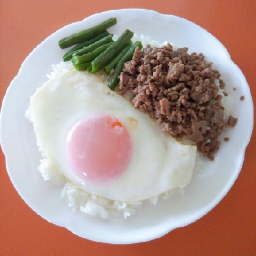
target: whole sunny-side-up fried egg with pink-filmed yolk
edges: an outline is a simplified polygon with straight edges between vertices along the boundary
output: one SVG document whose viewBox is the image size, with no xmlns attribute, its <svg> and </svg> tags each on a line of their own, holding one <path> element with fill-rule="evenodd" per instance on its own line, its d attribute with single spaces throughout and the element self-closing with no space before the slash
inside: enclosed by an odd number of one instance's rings
<svg viewBox="0 0 256 256">
<path fill-rule="evenodd" d="M 37 144 L 85 191 L 123 202 L 190 182 L 196 146 L 184 145 L 86 71 L 49 79 L 30 99 Z"/>
</svg>

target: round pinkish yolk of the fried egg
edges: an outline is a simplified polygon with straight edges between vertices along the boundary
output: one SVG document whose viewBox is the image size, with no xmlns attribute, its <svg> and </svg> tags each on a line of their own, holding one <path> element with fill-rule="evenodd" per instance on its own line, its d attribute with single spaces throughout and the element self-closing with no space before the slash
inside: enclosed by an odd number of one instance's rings
<svg viewBox="0 0 256 256">
<path fill-rule="evenodd" d="M 115 117 L 93 114 L 69 131 L 66 156 L 80 179 L 113 180 L 127 168 L 132 153 L 130 135 Z"/>
</svg>

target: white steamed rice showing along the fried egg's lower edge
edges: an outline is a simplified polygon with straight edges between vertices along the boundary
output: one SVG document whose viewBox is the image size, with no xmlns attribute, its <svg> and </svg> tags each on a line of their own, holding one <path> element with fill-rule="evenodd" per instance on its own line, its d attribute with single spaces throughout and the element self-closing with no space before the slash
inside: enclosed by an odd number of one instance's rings
<svg viewBox="0 0 256 256">
<path fill-rule="evenodd" d="M 99 216 L 103 219 L 109 218 L 110 216 L 119 217 L 123 215 L 123 218 L 127 218 L 130 215 L 135 215 L 137 210 L 140 210 L 143 201 L 132 201 L 132 202 L 122 202 L 114 201 L 110 199 L 105 199 L 104 197 L 97 196 L 96 194 L 89 193 L 82 190 L 79 186 L 72 183 L 70 180 L 66 179 L 63 174 L 61 174 L 57 169 L 55 169 L 48 159 L 43 158 L 40 160 L 41 164 L 38 166 L 38 171 L 40 171 L 41 176 L 44 180 L 49 180 L 54 185 L 62 186 L 62 191 L 60 193 L 60 198 L 65 199 L 68 207 L 71 207 L 73 212 L 79 209 L 83 213 L 87 213 L 92 216 Z M 197 164 L 194 171 L 200 166 L 200 159 L 197 155 Z M 179 188 L 174 188 L 171 191 L 166 191 L 159 196 L 153 196 L 149 198 L 149 202 L 153 205 L 157 205 L 159 198 L 169 199 L 172 194 L 178 192 L 181 196 L 184 196 L 183 185 Z"/>
</svg>

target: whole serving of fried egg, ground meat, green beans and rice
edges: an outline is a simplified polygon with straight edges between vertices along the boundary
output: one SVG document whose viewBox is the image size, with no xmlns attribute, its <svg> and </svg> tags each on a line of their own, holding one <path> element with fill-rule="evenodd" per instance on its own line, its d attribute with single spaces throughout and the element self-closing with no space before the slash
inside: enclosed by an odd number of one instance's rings
<svg viewBox="0 0 256 256">
<path fill-rule="evenodd" d="M 67 70 L 49 76 L 26 113 L 44 180 L 64 186 L 61 197 L 74 211 L 101 218 L 127 218 L 144 200 L 156 205 L 182 190 L 237 121 L 204 55 L 167 41 L 156 47 L 143 35 L 142 44 L 128 29 L 110 35 L 116 22 L 59 41 L 62 49 L 75 45 L 63 55 L 74 68 L 62 63 Z"/>
</svg>

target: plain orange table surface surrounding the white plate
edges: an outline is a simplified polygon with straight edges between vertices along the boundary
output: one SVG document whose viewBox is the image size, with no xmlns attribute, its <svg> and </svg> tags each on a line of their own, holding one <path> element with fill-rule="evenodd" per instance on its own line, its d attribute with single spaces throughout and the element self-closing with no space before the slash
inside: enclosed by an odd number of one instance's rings
<svg viewBox="0 0 256 256">
<path fill-rule="evenodd" d="M 24 59 L 55 30 L 94 13 L 127 8 L 177 15 L 208 30 L 241 68 L 256 101 L 255 0 L 11 0 L 0 4 L 1 102 Z M 238 179 L 203 218 L 154 241 L 113 245 L 82 239 L 33 212 L 13 188 L 0 151 L 0 255 L 256 255 L 255 152 L 254 129 Z"/>
</svg>

